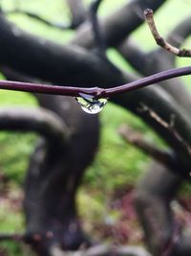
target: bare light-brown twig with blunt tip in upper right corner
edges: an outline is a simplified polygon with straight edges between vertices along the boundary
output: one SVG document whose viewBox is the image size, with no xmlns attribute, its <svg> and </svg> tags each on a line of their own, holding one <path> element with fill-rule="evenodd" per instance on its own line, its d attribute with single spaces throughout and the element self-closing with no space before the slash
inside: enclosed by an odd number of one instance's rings
<svg viewBox="0 0 191 256">
<path fill-rule="evenodd" d="M 151 30 L 152 35 L 154 36 L 157 44 L 167 50 L 168 52 L 179 56 L 179 57 L 191 57 L 191 50 L 188 49 L 179 49 L 173 45 L 171 45 L 169 42 L 167 42 L 163 37 L 159 35 L 158 29 L 156 27 L 154 17 L 153 17 L 153 11 L 151 9 L 146 9 L 144 11 L 144 15 L 146 18 L 146 21 L 149 25 L 149 28 Z"/>
</svg>

